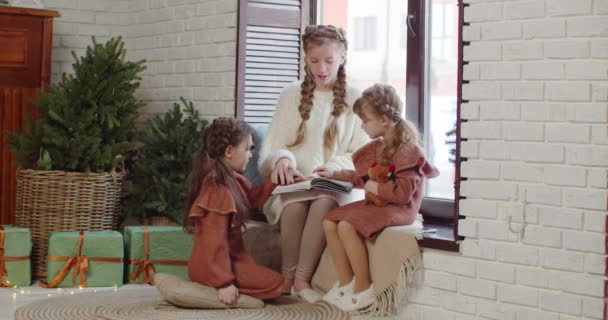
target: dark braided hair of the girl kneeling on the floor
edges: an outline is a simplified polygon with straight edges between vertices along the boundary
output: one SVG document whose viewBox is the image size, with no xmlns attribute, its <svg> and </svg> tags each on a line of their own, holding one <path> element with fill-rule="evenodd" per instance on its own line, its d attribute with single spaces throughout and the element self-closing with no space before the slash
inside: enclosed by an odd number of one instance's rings
<svg viewBox="0 0 608 320">
<path fill-rule="evenodd" d="M 182 223 L 186 231 L 192 232 L 188 213 L 201 193 L 202 182 L 207 175 L 212 175 L 216 185 L 228 187 L 236 204 L 235 219 L 240 222 L 237 225 L 244 225 L 249 216 L 249 208 L 245 205 L 245 199 L 232 170 L 224 162 L 224 155 L 228 146 L 237 146 L 251 135 L 251 132 L 252 129 L 247 122 L 234 118 L 217 118 L 205 130 L 203 147 L 196 152 L 192 162 L 192 174 L 186 196 L 186 214 Z"/>
</svg>

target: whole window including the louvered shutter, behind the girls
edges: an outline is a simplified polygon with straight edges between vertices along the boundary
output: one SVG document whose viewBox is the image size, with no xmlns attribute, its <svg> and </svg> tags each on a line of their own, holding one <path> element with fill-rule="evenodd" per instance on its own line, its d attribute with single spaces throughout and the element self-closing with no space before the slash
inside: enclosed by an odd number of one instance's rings
<svg viewBox="0 0 608 320">
<path fill-rule="evenodd" d="M 303 75 L 301 31 L 309 23 L 346 30 L 349 82 L 387 83 L 402 93 L 439 168 L 421 212 L 423 246 L 458 250 L 459 127 L 463 4 L 458 0 L 239 1 L 237 117 L 268 123 L 278 94 Z"/>
</svg>

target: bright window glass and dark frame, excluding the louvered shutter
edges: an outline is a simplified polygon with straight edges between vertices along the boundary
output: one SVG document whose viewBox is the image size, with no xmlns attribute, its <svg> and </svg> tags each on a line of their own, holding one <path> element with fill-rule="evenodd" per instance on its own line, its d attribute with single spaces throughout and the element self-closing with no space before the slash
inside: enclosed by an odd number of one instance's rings
<svg viewBox="0 0 608 320">
<path fill-rule="evenodd" d="M 317 22 L 341 26 L 347 31 L 349 41 L 354 44 L 347 58 L 351 83 L 362 88 L 376 82 L 388 83 L 403 93 L 404 117 L 418 124 L 426 154 L 441 172 L 438 178 L 428 180 L 425 190 L 421 209 L 425 225 L 438 231 L 428 241 L 425 239 L 423 245 L 457 250 L 458 172 L 453 153 L 457 156 L 458 144 L 452 142 L 458 140 L 461 72 L 458 1 L 340 3 L 319 0 Z M 369 49 L 371 43 L 375 50 L 363 50 Z"/>
</svg>

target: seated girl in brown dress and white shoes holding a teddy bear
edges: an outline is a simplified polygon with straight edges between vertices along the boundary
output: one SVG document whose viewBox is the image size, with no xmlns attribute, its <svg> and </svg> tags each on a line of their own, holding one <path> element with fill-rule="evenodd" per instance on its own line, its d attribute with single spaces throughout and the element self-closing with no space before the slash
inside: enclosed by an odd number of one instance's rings
<svg viewBox="0 0 608 320">
<path fill-rule="evenodd" d="M 391 86 L 376 84 L 365 90 L 353 109 L 374 140 L 353 154 L 355 170 L 315 169 L 321 176 L 351 181 L 386 203 L 380 207 L 361 200 L 325 216 L 323 228 L 339 282 L 323 299 L 345 311 L 363 309 L 375 299 L 365 239 L 385 227 L 414 222 L 424 197 L 425 178 L 438 175 L 424 157 L 418 130 L 401 118 L 402 108 Z M 368 179 L 368 169 L 376 165 L 390 168 L 387 182 Z"/>
</svg>

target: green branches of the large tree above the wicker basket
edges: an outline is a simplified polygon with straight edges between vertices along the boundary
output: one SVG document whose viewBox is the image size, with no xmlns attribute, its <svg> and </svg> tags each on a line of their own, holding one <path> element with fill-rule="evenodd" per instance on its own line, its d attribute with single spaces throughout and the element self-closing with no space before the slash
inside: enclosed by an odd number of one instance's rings
<svg viewBox="0 0 608 320">
<path fill-rule="evenodd" d="M 22 169 L 107 172 L 135 140 L 135 119 L 143 102 L 135 97 L 144 61 L 126 61 L 120 37 L 87 47 L 74 74 L 38 95 L 40 118 L 9 134 Z"/>
</svg>

